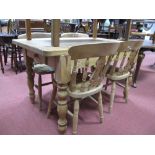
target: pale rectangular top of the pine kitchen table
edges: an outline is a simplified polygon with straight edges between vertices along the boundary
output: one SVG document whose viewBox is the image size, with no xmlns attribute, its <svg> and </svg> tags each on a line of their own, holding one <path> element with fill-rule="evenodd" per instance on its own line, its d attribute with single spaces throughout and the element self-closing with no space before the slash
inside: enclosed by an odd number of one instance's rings
<svg viewBox="0 0 155 155">
<path fill-rule="evenodd" d="M 96 43 L 114 43 L 120 42 L 114 39 L 103 38 L 60 38 L 60 46 L 51 46 L 51 38 L 33 38 L 27 39 L 13 39 L 13 44 L 16 44 L 24 49 L 33 51 L 43 56 L 60 56 L 68 55 L 68 49 L 72 46 L 83 44 L 96 44 Z"/>
</svg>

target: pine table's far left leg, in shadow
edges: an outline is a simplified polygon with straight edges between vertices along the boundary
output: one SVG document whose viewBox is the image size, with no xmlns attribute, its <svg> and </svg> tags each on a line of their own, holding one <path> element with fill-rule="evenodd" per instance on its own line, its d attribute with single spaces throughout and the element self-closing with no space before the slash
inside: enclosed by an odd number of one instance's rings
<svg viewBox="0 0 155 155">
<path fill-rule="evenodd" d="M 33 73 L 33 59 L 27 55 L 25 51 L 25 60 L 26 60 L 26 72 L 27 72 L 27 84 L 29 87 L 29 96 L 31 103 L 35 103 L 35 91 L 34 91 L 34 73 Z"/>
</svg>

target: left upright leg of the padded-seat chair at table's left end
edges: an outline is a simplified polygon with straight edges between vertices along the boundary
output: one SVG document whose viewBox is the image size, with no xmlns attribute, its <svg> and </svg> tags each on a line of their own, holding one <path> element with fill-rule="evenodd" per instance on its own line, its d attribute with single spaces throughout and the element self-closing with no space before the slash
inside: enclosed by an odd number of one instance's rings
<svg viewBox="0 0 155 155">
<path fill-rule="evenodd" d="M 42 110 L 42 78 L 38 76 L 38 96 L 39 96 L 39 109 Z"/>
</svg>

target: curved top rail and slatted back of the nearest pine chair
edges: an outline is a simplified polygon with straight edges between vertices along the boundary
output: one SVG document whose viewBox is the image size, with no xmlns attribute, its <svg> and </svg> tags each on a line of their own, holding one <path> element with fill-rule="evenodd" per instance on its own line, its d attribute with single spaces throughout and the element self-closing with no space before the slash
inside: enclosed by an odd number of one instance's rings
<svg viewBox="0 0 155 155">
<path fill-rule="evenodd" d="M 70 90 L 85 92 L 98 87 L 105 76 L 110 60 L 117 52 L 119 43 L 98 43 L 74 46 L 69 49 L 69 55 L 74 61 L 71 72 Z M 107 60 L 106 57 L 110 56 Z M 98 57 L 96 67 L 90 74 L 89 60 Z M 84 67 L 80 65 L 80 59 L 85 59 Z M 80 70 L 80 72 L 79 72 Z"/>
</svg>

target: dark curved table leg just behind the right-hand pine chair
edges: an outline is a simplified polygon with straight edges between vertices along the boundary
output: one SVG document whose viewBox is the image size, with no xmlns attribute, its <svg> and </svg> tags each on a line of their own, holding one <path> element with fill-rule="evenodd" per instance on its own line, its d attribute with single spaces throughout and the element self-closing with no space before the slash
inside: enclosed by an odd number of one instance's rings
<svg viewBox="0 0 155 155">
<path fill-rule="evenodd" d="M 137 85 L 136 85 L 136 82 L 137 82 L 137 77 L 138 77 L 138 74 L 139 74 L 139 71 L 140 71 L 140 67 L 141 67 L 141 64 L 142 64 L 142 61 L 145 57 L 145 54 L 143 53 L 144 50 L 141 49 L 139 51 L 139 55 L 138 55 L 138 59 L 137 59 L 137 64 L 136 64 L 136 70 L 135 70 L 135 73 L 133 75 L 133 87 L 136 88 Z"/>
</svg>

